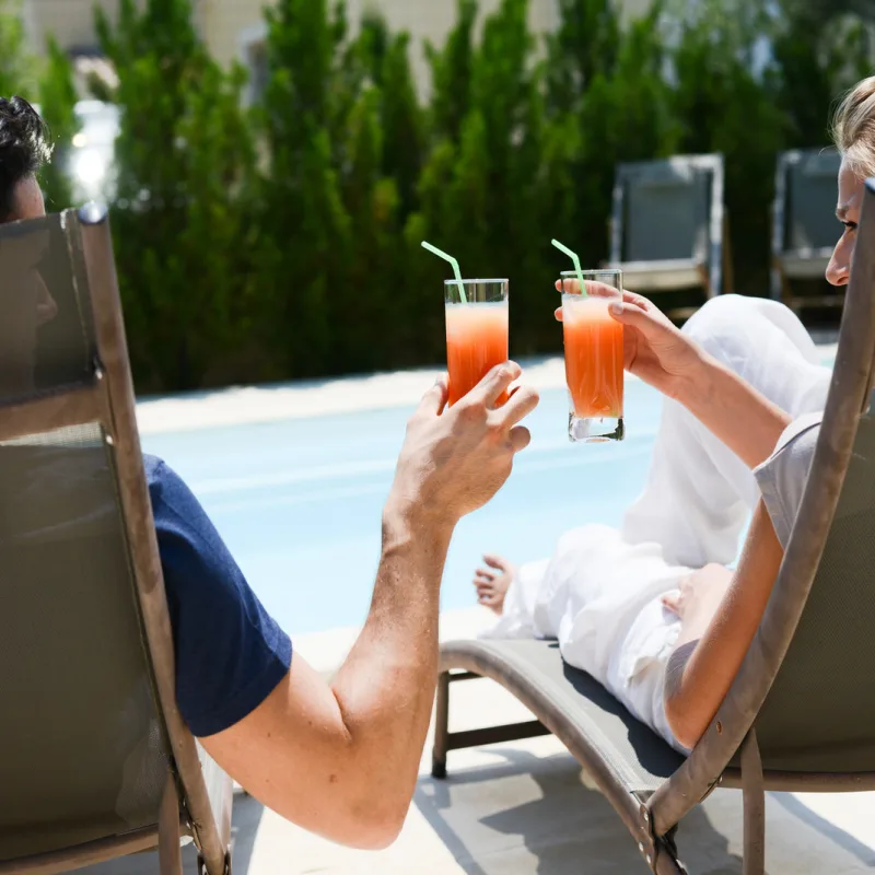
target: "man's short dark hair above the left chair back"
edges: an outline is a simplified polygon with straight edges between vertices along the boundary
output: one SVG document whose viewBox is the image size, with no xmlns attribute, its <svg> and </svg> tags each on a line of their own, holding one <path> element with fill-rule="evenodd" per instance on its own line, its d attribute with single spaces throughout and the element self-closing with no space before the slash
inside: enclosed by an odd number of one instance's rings
<svg viewBox="0 0 875 875">
<path fill-rule="evenodd" d="M 23 97 L 0 97 L 0 222 L 15 209 L 15 188 L 51 158 L 48 127 Z"/>
</svg>

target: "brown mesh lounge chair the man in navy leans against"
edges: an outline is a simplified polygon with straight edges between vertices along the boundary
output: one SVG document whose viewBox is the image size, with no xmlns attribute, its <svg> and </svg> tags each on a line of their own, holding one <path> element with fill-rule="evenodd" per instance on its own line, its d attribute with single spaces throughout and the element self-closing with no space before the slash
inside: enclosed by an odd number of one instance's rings
<svg viewBox="0 0 875 875">
<path fill-rule="evenodd" d="M 226 875 L 233 785 L 176 707 L 100 208 L 0 228 L 0 873 L 158 849 L 180 875 L 192 839 Z"/>
</svg>

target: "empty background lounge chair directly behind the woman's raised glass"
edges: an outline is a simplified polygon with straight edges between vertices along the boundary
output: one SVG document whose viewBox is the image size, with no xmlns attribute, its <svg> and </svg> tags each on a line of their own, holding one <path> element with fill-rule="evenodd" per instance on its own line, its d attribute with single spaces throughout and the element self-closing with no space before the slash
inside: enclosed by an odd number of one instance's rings
<svg viewBox="0 0 875 875">
<path fill-rule="evenodd" d="M 732 291 L 723 179 L 722 155 L 618 166 L 609 265 L 627 289 Z"/>
</svg>

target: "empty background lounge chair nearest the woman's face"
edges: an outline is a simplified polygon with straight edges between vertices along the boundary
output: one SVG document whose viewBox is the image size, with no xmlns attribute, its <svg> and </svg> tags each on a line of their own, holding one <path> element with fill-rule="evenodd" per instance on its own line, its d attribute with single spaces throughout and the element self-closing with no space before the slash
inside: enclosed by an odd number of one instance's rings
<svg viewBox="0 0 875 875">
<path fill-rule="evenodd" d="M 841 156 L 835 149 L 784 152 L 778 159 L 772 229 L 772 298 L 788 306 L 841 306 L 843 294 L 794 294 L 800 280 L 826 284 L 838 238 L 836 177 Z"/>
</svg>

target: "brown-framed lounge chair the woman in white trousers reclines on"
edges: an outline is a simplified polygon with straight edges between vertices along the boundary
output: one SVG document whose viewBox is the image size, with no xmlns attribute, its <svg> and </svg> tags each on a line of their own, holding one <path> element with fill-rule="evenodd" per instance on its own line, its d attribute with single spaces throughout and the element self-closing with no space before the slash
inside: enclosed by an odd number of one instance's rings
<svg viewBox="0 0 875 875">
<path fill-rule="evenodd" d="M 742 668 L 689 758 L 634 720 L 556 642 L 442 648 L 433 774 L 448 750 L 544 733 L 560 738 L 660 875 L 685 872 L 675 832 L 718 785 L 744 793 L 746 875 L 762 875 L 765 791 L 875 789 L 875 180 L 866 187 L 854 269 L 817 452 L 772 597 Z M 487 677 L 536 721 L 447 730 L 453 684 Z"/>
</svg>

